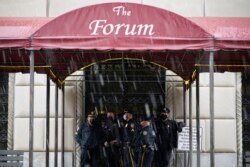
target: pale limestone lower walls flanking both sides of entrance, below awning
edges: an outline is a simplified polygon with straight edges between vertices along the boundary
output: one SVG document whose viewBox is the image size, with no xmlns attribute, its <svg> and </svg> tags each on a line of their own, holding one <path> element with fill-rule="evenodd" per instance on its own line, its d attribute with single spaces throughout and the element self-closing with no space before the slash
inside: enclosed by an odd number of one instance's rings
<svg viewBox="0 0 250 167">
<path fill-rule="evenodd" d="M 237 99 L 239 95 L 239 86 L 241 85 L 241 77 L 238 73 L 215 73 L 214 88 L 214 106 L 215 106 L 215 161 L 216 166 L 219 164 L 235 167 L 239 159 L 239 148 L 237 144 L 239 136 L 237 131 L 238 119 L 237 112 L 241 112 L 238 108 Z M 50 120 L 50 151 L 53 155 L 54 151 L 54 115 L 55 115 L 55 86 L 51 83 L 51 120 Z M 193 127 L 196 126 L 196 92 L 195 83 L 192 85 L 192 118 Z M 14 91 L 14 149 L 29 150 L 29 74 L 16 74 L 15 91 Z M 187 117 L 189 117 L 187 91 Z M 75 113 L 76 113 L 76 86 L 67 84 L 65 87 L 65 151 L 67 163 L 72 164 L 74 152 L 74 131 L 75 131 Z M 178 120 L 183 120 L 183 88 L 182 85 L 174 84 L 173 89 L 168 90 L 168 105 L 174 111 Z M 171 104 L 170 104 L 171 103 Z M 202 128 L 201 140 L 201 164 L 209 166 L 209 150 L 210 150 L 210 110 L 209 110 L 209 75 L 200 74 L 200 125 Z M 46 76 L 42 74 L 35 75 L 35 108 L 34 108 L 34 162 L 45 162 L 45 139 L 46 139 Z M 61 91 L 59 91 L 59 152 L 61 149 Z M 187 120 L 187 125 L 189 125 Z M 219 158 L 218 158 L 219 157 Z M 26 158 L 28 155 L 26 154 Z M 183 154 L 178 154 L 178 166 L 182 166 Z M 60 156 L 59 156 L 60 159 Z M 39 161 L 40 160 L 40 161 Z M 230 160 L 230 161 L 229 161 Z M 51 157 L 53 161 L 53 156 Z M 193 154 L 194 165 L 196 163 L 196 154 Z M 27 161 L 26 161 L 27 162 Z M 230 163 L 229 163 L 230 162 Z M 38 163 L 39 164 L 39 163 Z M 40 163 L 38 166 L 43 166 Z"/>
</svg>

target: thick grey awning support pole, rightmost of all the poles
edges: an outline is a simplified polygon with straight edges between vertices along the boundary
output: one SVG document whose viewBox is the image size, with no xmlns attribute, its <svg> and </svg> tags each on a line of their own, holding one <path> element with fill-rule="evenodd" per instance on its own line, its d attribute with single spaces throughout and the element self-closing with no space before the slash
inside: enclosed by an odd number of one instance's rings
<svg viewBox="0 0 250 167">
<path fill-rule="evenodd" d="M 210 166 L 214 167 L 214 52 L 209 53 L 210 89 Z"/>
</svg>

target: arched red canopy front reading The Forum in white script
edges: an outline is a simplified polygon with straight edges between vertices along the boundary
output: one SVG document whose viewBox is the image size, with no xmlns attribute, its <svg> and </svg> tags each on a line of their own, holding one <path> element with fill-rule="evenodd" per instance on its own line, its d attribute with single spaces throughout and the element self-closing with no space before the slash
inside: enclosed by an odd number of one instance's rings
<svg viewBox="0 0 250 167">
<path fill-rule="evenodd" d="M 32 36 L 32 48 L 84 50 L 206 49 L 212 35 L 172 12 L 106 3 L 63 14 Z"/>
</svg>

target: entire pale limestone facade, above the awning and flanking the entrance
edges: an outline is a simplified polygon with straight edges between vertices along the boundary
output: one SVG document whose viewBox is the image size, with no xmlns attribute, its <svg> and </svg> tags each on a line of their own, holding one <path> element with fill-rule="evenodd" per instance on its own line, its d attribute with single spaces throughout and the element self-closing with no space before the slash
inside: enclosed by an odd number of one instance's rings
<svg viewBox="0 0 250 167">
<path fill-rule="evenodd" d="M 56 17 L 70 10 L 87 5 L 104 2 L 119 2 L 115 0 L 1 0 L 0 17 Z M 233 16 L 249 17 L 250 1 L 249 0 L 123 0 L 122 2 L 142 3 L 164 8 L 177 14 L 193 16 Z M 48 10 L 48 15 L 47 15 Z M 237 105 L 236 103 L 236 79 L 235 73 L 216 74 L 215 75 L 215 151 L 216 166 L 236 166 L 237 164 Z M 14 87 L 14 126 L 13 126 L 13 148 L 17 150 L 28 150 L 28 125 L 29 125 L 29 74 L 18 74 L 15 78 Z M 51 84 L 52 85 L 52 84 Z M 209 165 L 209 79 L 207 74 L 201 74 L 200 77 L 200 106 L 201 106 L 201 127 L 203 128 L 202 137 L 202 162 Z M 54 149 L 54 113 L 55 98 L 54 85 L 51 86 L 51 145 Z M 76 101 L 76 88 L 69 85 L 65 88 L 66 95 L 66 115 L 65 115 L 65 151 L 69 152 L 68 164 L 72 163 L 72 151 L 74 149 L 74 112 Z M 182 88 L 175 88 L 175 98 L 173 106 L 175 107 L 176 116 L 182 119 Z M 59 99 L 61 93 L 59 91 Z M 193 99 L 195 99 L 195 89 L 193 89 Z M 195 118 L 195 100 L 193 100 L 193 118 Z M 59 100 L 59 117 L 61 117 L 61 104 Z M 188 109 L 188 107 L 187 107 Z M 241 108 L 239 109 L 241 110 Z M 34 150 L 38 153 L 34 157 L 37 164 L 44 160 L 45 151 L 45 111 L 46 111 L 46 76 L 36 75 L 35 77 L 35 119 L 34 119 Z M 188 110 L 187 110 L 188 113 Z M 59 136 L 61 120 L 59 118 Z M 195 125 L 195 121 L 193 123 Z M 61 147 L 59 140 L 59 150 Z M 40 153 L 40 154 L 39 154 Z M 38 157 L 38 158 L 36 158 Z M 52 162 L 53 163 L 53 162 Z M 36 165 L 38 167 L 38 165 Z M 69 165 L 72 166 L 72 165 Z"/>
</svg>

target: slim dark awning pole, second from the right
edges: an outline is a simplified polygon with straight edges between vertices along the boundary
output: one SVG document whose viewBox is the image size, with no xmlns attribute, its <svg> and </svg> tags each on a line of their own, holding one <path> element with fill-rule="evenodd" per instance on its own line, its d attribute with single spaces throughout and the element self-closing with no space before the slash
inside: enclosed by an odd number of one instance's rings
<svg viewBox="0 0 250 167">
<path fill-rule="evenodd" d="M 196 67 L 196 142 L 197 142 L 197 167 L 200 167 L 200 77 L 199 67 Z"/>
</svg>

